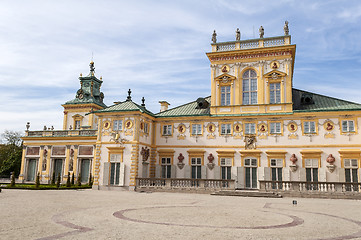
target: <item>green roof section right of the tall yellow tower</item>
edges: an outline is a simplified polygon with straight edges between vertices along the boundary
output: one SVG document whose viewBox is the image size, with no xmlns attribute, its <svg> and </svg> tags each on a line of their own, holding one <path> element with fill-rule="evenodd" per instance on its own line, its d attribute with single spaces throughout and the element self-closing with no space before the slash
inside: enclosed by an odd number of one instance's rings
<svg viewBox="0 0 361 240">
<path fill-rule="evenodd" d="M 302 98 L 311 98 L 311 103 L 305 103 Z M 323 112 L 323 111 L 355 111 L 361 110 L 361 104 L 324 96 L 312 92 L 292 89 L 294 112 Z"/>
</svg>

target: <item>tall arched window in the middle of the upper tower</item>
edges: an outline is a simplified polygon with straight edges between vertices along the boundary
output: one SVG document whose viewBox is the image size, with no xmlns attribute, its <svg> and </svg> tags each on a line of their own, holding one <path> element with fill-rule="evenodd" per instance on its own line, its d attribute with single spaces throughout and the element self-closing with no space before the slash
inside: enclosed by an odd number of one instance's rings
<svg viewBox="0 0 361 240">
<path fill-rule="evenodd" d="M 243 73 L 243 94 L 244 105 L 257 104 L 257 73 L 254 70 L 247 70 Z"/>
</svg>

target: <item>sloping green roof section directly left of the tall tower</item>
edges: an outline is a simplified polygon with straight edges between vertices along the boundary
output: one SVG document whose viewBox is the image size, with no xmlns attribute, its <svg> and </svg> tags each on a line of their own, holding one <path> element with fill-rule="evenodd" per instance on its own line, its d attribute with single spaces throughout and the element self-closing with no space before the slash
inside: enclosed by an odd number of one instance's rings
<svg viewBox="0 0 361 240">
<path fill-rule="evenodd" d="M 205 100 L 211 103 L 211 97 L 206 97 Z M 197 101 L 193 101 L 190 103 L 186 103 L 179 107 L 175 107 L 169 109 L 167 111 L 163 111 L 157 113 L 156 117 L 187 117 L 187 116 L 210 116 L 209 107 L 205 109 L 198 109 Z"/>
</svg>

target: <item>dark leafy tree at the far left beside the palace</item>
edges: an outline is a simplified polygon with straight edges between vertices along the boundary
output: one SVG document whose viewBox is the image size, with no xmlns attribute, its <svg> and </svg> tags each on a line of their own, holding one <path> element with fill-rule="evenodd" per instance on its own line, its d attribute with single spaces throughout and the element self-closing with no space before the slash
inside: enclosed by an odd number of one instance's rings
<svg viewBox="0 0 361 240">
<path fill-rule="evenodd" d="M 15 176 L 20 174 L 22 140 L 21 133 L 5 130 L 1 134 L 0 144 L 0 175 L 10 176 L 14 172 Z"/>
</svg>

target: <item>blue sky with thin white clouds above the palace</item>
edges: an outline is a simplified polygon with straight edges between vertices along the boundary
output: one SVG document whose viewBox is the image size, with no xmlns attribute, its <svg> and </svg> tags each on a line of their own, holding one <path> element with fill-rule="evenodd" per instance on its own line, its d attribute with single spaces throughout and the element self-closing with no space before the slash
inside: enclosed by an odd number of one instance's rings
<svg viewBox="0 0 361 240">
<path fill-rule="evenodd" d="M 210 95 L 211 36 L 218 42 L 283 35 L 296 44 L 293 86 L 361 103 L 361 1 L 2 0 L 0 133 L 62 129 L 79 75 L 103 77 L 104 102 L 157 113 Z"/>
</svg>

